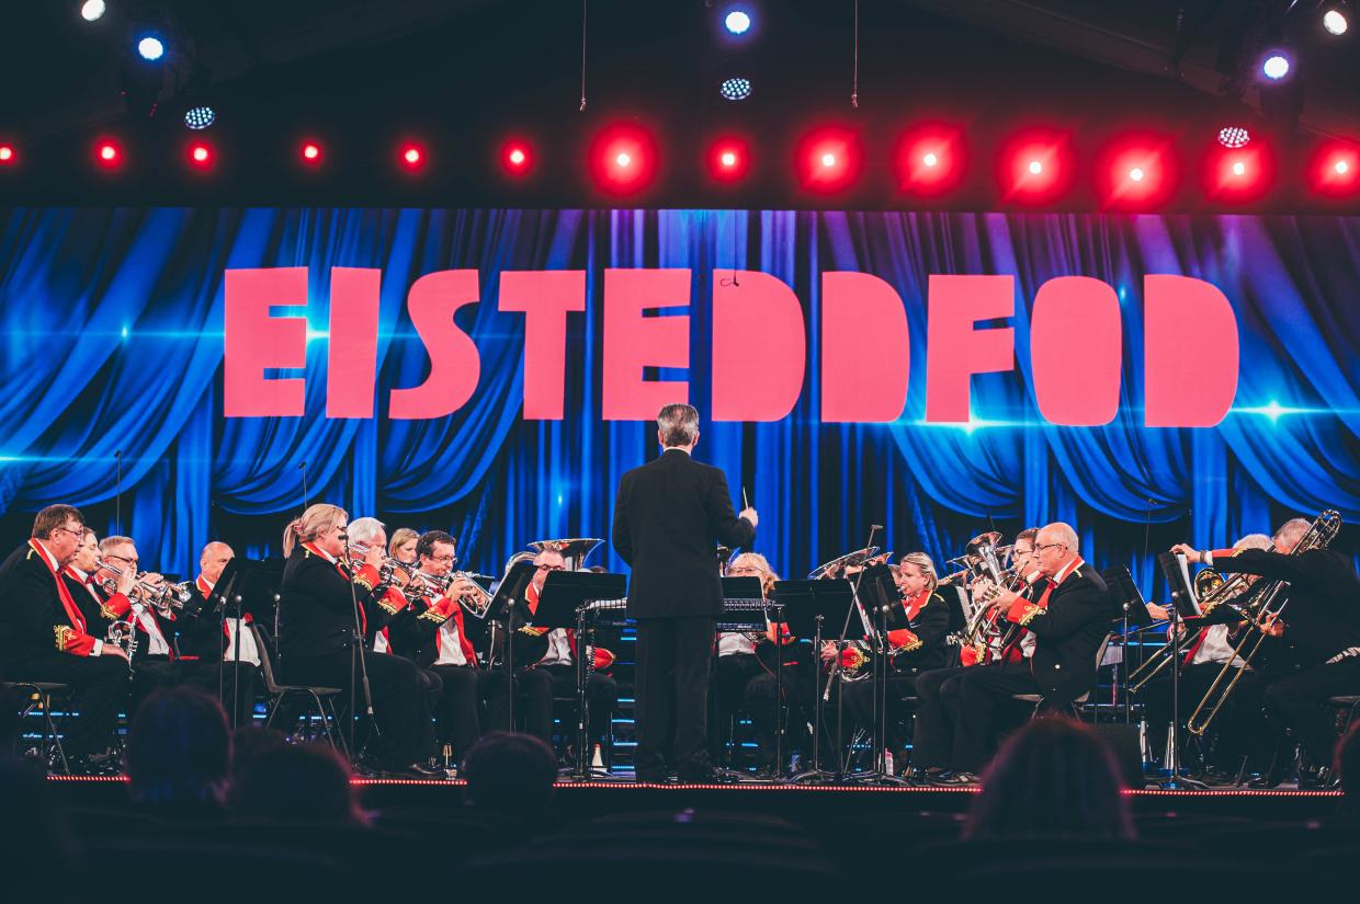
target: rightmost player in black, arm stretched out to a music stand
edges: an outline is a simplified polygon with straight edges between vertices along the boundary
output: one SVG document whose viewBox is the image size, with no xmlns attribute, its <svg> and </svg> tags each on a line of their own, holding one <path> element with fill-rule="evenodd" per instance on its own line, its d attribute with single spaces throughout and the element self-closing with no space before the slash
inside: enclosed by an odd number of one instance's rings
<svg viewBox="0 0 1360 904">
<path fill-rule="evenodd" d="M 1311 526 L 1295 518 L 1276 532 L 1273 549 L 1244 549 L 1236 556 L 1223 551 L 1198 552 L 1186 544 L 1171 551 L 1223 574 L 1259 575 L 1289 583 L 1288 605 L 1278 617 L 1266 616 L 1259 629 L 1270 638 L 1284 638 L 1302 667 L 1266 686 L 1265 711 L 1277 737 L 1282 737 L 1285 729 L 1292 730 L 1312 763 L 1325 767 L 1331 763 L 1337 740 L 1329 700 L 1360 693 L 1360 606 L 1356 605 L 1360 578 L 1340 552 L 1325 546 L 1296 552 Z M 1272 609 L 1280 609 L 1278 599 Z M 1288 765 L 1288 757 L 1276 756 L 1261 784 L 1273 787 L 1282 782 Z"/>
</svg>

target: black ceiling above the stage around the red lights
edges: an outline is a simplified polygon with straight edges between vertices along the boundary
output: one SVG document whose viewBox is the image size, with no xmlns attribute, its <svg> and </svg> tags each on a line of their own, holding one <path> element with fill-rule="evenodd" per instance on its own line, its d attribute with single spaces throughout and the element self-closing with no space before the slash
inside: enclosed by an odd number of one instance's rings
<svg viewBox="0 0 1360 904">
<path fill-rule="evenodd" d="M 107 0 L 97 23 L 78 0 L 7 10 L 0 33 L 0 139 L 19 166 L 0 171 L 0 200 L 22 203 L 600 205 L 582 159 L 590 137 L 628 120 L 657 135 L 658 178 L 630 204 L 913 207 L 895 194 L 892 144 L 911 122 L 962 125 L 974 173 L 932 207 L 997 207 L 989 159 L 1009 131 L 1070 129 L 1078 159 L 1130 128 L 1168 135 L 1193 169 L 1210 139 L 1223 91 L 1257 106 L 1250 80 L 1225 67 L 1235 44 L 1250 68 L 1272 24 L 1300 53 L 1303 109 L 1277 125 L 1280 188 L 1258 207 L 1310 209 L 1292 186 L 1321 136 L 1360 139 L 1360 53 L 1316 27 L 1316 0 L 861 0 L 858 109 L 853 0 L 745 3 L 760 33 L 726 46 L 718 0 L 588 0 L 586 94 L 579 110 L 582 4 L 578 0 Z M 131 116 L 120 71 L 135 30 L 150 23 L 180 52 L 184 88 L 155 118 Z M 1356 31 L 1360 31 L 1357 23 Z M 749 101 L 717 98 L 737 65 Z M 211 173 L 184 164 L 189 140 L 178 106 L 194 82 L 218 124 Z M 804 196 L 793 177 L 798 136 L 839 122 L 862 136 L 865 173 L 835 197 Z M 744 132 L 752 178 L 717 188 L 700 163 L 709 139 Z M 507 182 L 496 151 L 526 136 L 536 175 Z M 91 164 L 101 136 L 126 147 L 117 173 Z M 303 171 L 302 136 L 326 147 Z M 403 139 L 428 150 L 418 177 L 394 164 Z M 1296 179 L 1302 181 L 1302 179 Z M 1087 179 L 1089 182 L 1089 179 Z M 1061 203 L 1099 205 L 1089 189 Z M 1202 205 L 1185 179 L 1171 208 Z M 1336 209 L 1327 205 L 1327 209 Z"/>
</svg>

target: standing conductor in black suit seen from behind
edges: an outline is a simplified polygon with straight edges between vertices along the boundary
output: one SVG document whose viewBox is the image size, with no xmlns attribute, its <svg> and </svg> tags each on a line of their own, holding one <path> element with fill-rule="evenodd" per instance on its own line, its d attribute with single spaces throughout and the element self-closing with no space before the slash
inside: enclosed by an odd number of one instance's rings
<svg viewBox="0 0 1360 904">
<path fill-rule="evenodd" d="M 759 518 L 749 507 L 733 512 L 722 472 L 691 457 L 694 408 L 664 406 L 657 442 L 661 457 L 623 476 L 613 510 L 613 548 L 632 568 L 628 616 L 638 621 L 636 775 L 664 782 L 673 765 L 683 780 L 706 780 L 709 666 L 722 613 L 713 549 L 749 545 Z"/>
</svg>

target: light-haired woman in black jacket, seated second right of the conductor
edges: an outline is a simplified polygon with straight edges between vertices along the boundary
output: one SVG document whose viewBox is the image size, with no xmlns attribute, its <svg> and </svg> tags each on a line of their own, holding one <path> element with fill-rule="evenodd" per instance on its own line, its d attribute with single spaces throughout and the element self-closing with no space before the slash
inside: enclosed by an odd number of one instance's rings
<svg viewBox="0 0 1360 904">
<path fill-rule="evenodd" d="M 888 678 L 887 700 L 884 700 L 884 738 L 888 750 L 894 752 L 896 763 L 906 763 L 906 737 L 902 720 L 906 715 L 903 697 L 915 695 L 915 681 L 922 672 L 938 669 L 947 662 L 945 635 L 949 632 L 949 604 L 936 587 L 938 578 L 934 563 L 923 552 L 911 552 L 902 557 L 899 568 L 899 589 L 903 598 L 888 616 Z M 835 661 L 836 644 L 827 642 L 821 647 L 821 658 Z M 842 654 L 842 667 L 870 669 L 864 661 L 864 653 L 851 647 Z M 854 725 L 865 731 L 873 731 L 877 720 L 874 712 L 874 688 L 872 680 L 842 682 L 846 712 Z"/>
</svg>

